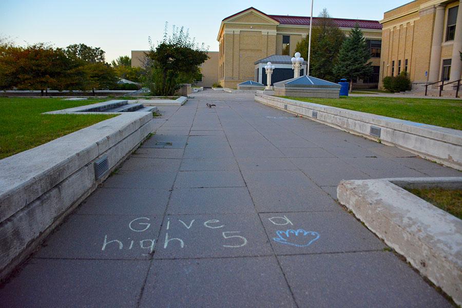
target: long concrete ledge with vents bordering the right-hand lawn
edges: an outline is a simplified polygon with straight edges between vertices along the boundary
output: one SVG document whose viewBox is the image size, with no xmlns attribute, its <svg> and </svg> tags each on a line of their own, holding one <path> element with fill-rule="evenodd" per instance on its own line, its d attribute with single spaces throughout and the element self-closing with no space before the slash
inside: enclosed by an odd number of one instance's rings
<svg viewBox="0 0 462 308">
<path fill-rule="evenodd" d="M 462 131 L 382 115 L 256 94 L 255 101 L 394 145 L 462 170 Z M 377 133 L 378 132 L 378 133 Z"/>
</svg>

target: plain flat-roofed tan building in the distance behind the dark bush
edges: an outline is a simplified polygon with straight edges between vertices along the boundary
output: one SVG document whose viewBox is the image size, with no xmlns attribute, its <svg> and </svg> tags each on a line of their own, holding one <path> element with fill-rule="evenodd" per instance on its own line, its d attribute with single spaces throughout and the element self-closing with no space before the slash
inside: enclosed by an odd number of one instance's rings
<svg viewBox="0 0 462 308">
<path fill-rule="evenodd" d="M 131 66 L 144 67 L 146 65 L 146 53 L 149 50 L 132 50 Z M 201 65 L 202 80 L 198 80 L 194 85 L 210 88 L 214 83 L 218 83 L 218 51 L 208 51 L 208 57 Z"/>
</svg>

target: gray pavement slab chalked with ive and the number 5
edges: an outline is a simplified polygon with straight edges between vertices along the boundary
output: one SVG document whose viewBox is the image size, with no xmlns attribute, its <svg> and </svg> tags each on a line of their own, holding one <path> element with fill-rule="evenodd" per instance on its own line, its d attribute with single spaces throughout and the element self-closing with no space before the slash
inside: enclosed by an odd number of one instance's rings
<svg viewBox="0 0 462 308">
<path fill-rule="evenodd" d="M 155 259 L 269 256 L 257 214 L 165 216 Z"/>
</svg>

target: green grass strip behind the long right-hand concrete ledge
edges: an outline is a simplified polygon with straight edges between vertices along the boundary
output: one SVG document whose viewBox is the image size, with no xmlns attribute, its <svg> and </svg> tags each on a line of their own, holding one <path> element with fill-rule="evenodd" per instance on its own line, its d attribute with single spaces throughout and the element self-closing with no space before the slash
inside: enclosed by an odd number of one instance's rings
<svg viewBox="0 0 462 308">
<path fill-rule="evenodd" d="M 381 97 L 284 98 L 385 115 L 386 117 L 418 123 L 462 129 L 462 100 Z"/>
</svg>

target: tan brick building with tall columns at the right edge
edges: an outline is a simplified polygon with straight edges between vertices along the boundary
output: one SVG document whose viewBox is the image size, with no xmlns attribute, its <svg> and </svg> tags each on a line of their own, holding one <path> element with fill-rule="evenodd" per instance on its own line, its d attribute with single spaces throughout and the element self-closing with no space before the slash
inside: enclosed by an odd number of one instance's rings
<svg viewBox="0 0 462 308">
<path fill-rule="evenodd" d="M 461 78 L 460 1 L 416 0 L 383 14 L 380 83 L 407 71 L 413 89 Z"/>
</svg>

